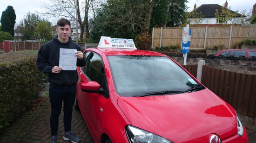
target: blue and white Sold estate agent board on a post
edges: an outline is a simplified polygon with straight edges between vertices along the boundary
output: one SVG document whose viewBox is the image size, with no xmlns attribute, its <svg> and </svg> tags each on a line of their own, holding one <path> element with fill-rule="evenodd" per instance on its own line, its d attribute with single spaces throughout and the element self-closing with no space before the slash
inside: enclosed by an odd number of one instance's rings
<svg viewBox="0 0 256 143">
<path fill-rule="evenodd" d="M 182 33 L 182 53 L 190 52 L 190 37 L 191 37 L 191 29 L 187 27 L 183 27 Z"/>
</svg>

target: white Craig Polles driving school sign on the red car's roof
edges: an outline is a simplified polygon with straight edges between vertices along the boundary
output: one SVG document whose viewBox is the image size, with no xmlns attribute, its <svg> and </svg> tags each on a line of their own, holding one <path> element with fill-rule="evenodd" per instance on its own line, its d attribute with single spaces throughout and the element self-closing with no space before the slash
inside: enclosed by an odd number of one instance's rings
<svg viewBox="0 0 256 143">
<path fill-rule="evenodd" d="M 133 39 L 111 38 L 101 36 L 98 48 L 136 49 Z"/>
</svg>

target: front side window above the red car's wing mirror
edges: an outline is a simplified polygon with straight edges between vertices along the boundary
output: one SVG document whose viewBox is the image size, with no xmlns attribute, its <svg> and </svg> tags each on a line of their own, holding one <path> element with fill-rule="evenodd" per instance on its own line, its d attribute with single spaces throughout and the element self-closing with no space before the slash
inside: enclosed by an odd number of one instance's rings
<svg viewBox="0 0 256 143">
<path fill-rule="evenodd" d="M 94 52 L 89 54 L 85 67 L 85 75 L 90 81 L 96 81 L 101 85 L 104 77 L 104 67 L 101 56 Z"/>
</svg>

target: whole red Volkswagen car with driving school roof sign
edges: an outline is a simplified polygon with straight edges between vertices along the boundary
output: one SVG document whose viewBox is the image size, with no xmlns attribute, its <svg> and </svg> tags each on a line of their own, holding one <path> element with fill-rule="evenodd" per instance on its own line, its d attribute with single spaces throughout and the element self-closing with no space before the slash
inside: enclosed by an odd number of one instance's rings
<svg viewBox="0 0 256 143">
<path fill-rule="evenodd" d="M 110 37 L 84 56 L 74 107 L 95 143 L 248 143 L 233 107 L 170 57 Z"/>
</svg>

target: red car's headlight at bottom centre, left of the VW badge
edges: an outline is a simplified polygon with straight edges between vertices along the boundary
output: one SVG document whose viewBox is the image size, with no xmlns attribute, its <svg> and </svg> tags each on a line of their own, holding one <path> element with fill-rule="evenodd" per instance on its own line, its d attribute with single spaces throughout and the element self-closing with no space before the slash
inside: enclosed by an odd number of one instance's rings
<svg viewBox="0 0 256 143">
<path fill-rule="evenodd" d="M 166 138 L 157 136 L 151 132 L 141 130 L 131 125 L 125 127 L 126 135 L 130 143 L 173 143 Z"/>
</svg>

